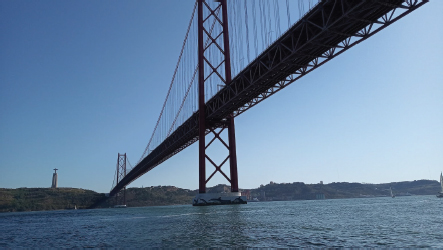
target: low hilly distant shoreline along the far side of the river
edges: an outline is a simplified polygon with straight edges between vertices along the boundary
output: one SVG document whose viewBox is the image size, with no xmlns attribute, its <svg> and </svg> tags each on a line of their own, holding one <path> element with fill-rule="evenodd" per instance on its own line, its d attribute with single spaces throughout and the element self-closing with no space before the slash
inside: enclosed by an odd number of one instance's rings
<svg viewBox="0 0 443 250">
<path fill-rule="evenodd" d="M 383 184 L 333 182 L 329 184 L 305 184 L 303 182 L 274 183 L 255 189 L 242 189 L 243 195 L 259 201 L 291 201 L 344 198 L 389 197 L 389 188 L 396 196 L 435 195 L 440 183 L 431 180 L 416 180 Z M 208 188 L 209 193 L 229 192 L 230 187 L 219 184 Z M 170 206 L 191 204 L 198 190 L 174 186 L 151 186 L 128 188 L 128 207 Z M 0 188 L 0 212 L 52 211 L 91 208 L 109 208 L 117 198 L 104 193 L 79 188 Z"/>
</svg>

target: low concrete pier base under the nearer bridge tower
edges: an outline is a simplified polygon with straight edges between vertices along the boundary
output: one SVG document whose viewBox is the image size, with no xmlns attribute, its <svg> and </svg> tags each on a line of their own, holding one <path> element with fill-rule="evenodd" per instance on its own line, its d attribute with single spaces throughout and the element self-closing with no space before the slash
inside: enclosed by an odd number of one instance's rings
<svg viewBox="0 0 443 250">
<path fill-rule="evenodd" d="M 248 202 L 246 201 L 246 196 L 242 196 L 240 192 L 197 194 L 192 201 L 193 206 L 231 205 L 247 203 Z"/>
</svg>

